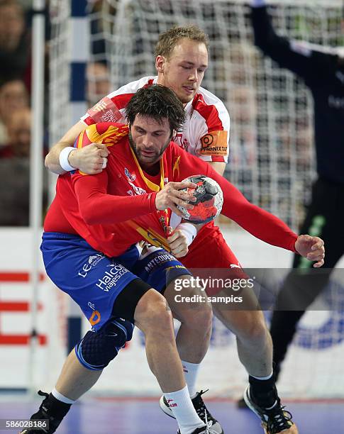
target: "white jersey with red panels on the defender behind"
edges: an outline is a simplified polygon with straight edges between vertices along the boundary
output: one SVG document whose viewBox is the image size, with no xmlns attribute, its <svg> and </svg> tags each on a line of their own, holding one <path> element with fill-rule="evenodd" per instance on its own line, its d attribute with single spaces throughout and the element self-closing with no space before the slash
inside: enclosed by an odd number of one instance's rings
<svg viewBox="0 0 344 434">
<path fill-rule="evenodd" d="M 82 116 L 87 125 L 98 122 L 125 122 L 124 109 L 141 87 L 157 82 L 157 77 L 143 77 L 125 84 L 105 96 Z M 204 161 L 228 162 L 230 118 L 217 96 L 199 88 L 194 99 L 185 106 L 187 118 L 183 130 L 174 138 L 179 146 Z"/>
</svg>

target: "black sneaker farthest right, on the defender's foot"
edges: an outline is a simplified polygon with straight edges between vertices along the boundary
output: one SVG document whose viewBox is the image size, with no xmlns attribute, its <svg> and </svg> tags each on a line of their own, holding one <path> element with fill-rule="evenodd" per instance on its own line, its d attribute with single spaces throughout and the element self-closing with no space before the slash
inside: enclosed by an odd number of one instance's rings
<svg viewBox="0 0 344 434">
<path fill-rule="evenodd" d="M 248 386 L 245 390 L 244 400 L 248 408 L 261 419 L 265 434 L 299 434 L 295 423 L 292 421 L 292 413 L 284 410 L 278 396 L 276 404 L 270 410 L 267 410 L 253 401 L 250 397 L 250 386 Z"/>
</svg>

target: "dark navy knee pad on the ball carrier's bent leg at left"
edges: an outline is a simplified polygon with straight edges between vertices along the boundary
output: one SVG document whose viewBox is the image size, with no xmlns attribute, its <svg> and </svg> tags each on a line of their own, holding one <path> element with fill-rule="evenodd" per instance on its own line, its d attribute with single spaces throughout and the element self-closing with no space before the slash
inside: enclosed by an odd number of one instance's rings
<svg viewBox="0 0 344 434">
<path fill-rule="evenodd" d="M 112 319 L 97 332 L 89 330 L 75 345 L 79 362 L 87 369 L 100 371 L 113 360 L 118 351 L 133 337 L 134 325 L 123 318 Z"/>
</svg>

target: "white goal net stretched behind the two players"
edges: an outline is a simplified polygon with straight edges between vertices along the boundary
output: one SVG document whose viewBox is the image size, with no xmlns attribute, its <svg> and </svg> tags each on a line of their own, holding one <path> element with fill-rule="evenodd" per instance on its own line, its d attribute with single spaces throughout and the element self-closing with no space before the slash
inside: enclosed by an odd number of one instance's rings
<svg viewBox="0 0 344 434">
<path fill-rule="evenodd" d="M 341 2 L 274 1 L 278 32 L 321 45 L 337 45 Z M 196 23 L 209 34 L 203 87 L 231 116 L 231 163 L 226 176 L 255 204 L 296 229 L 314 179 L 309 91 L 294 74 L 263 58 L 253 45 L 250 8 L 243 1 L 104 1 L 104 60 L 113 89 L 155 74 L 157 35 Z M 99 56 L 99 54 L 97 54 Z"/>
</svg>

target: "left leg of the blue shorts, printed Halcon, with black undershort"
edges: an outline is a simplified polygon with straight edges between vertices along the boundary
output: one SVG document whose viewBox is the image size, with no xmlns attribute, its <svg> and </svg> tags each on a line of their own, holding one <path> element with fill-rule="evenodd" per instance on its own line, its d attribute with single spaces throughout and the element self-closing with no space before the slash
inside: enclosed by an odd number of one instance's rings
<svg viewBox="0 0 344 434">
<path fill-rule="evenodd" d="M 94 330 L 114 316 L 133 321 L 138 300 L 150 289 L 123 265 L 137 260 L 135 247 L 109 258 L 75 235 L 45 233 L 41 250 L 48 276 L 79 305 Z M 114 312 L 117 299 L 122 310 Z"/>
</svg>

